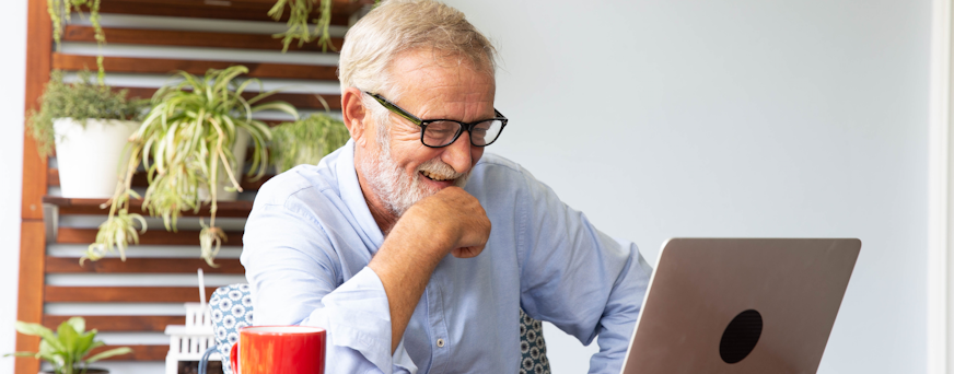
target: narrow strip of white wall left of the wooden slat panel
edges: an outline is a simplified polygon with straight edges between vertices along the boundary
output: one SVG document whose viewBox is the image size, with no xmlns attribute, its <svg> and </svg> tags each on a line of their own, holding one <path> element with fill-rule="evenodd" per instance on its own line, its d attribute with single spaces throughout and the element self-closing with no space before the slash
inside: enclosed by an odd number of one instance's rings
<svg viewBox="0 0 954 374">
<path fill-rule="evenodd" d="M 20 269 L 20 191 L 23 173 L 23 89 L 26 77 L 26 0 L 9 1 L 0 12 L 3 35 L 0 71 L 0 354 L 13 352 Z M 0 373 L 13 373 L 13 359 L 0 359 Z"/>
</svg>

